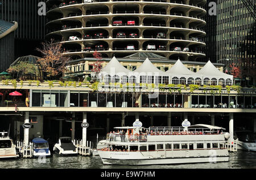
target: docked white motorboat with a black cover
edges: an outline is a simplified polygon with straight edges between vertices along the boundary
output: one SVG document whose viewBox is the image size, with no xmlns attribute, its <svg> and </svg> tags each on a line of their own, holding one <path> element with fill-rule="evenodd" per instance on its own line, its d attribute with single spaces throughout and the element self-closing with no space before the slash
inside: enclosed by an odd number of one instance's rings
<svg viewBox="0 0 256 180">
<path fill-rule="evenodd" d="M 60 137 L 58 143 L 53 147 L 53 151 L 60 155 L 77 155 L 78 151 L 71 140 L 71 137 Z"/>
</svg>

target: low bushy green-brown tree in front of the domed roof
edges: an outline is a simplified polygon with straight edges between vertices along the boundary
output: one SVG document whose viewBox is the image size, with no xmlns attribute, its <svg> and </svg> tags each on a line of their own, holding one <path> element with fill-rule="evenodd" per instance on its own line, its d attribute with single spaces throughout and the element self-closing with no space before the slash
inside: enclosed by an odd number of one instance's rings
<svg viewBox="0 0 256 180">
<path fill-rule="evenodd" d="M 10 66 L 7 72 L 13 75 L 13 77 L 24 78 L 25 74 L 36 74 L 36 66 L 29 62 L 20 61 L 16 65 Z"/>
</svg>

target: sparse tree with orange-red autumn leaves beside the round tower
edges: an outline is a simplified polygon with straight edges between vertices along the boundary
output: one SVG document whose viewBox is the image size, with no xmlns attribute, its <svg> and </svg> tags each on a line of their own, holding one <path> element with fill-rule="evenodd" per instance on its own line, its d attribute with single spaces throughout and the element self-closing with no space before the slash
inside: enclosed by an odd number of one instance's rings
<svg viewBox="0 0 256 180">
<path fill-rule="evenodd" d="M 36 50 L 42 53 L 43 57 L 39 58 L 38 62 L 47 77 L 56 79 L 66 70 L 70 58 L 64 55 L 65 51 L 60 42 L 51 39 L 49 42 L 42 43 L 42 49 L 36 48 Z"/>
</svg>

